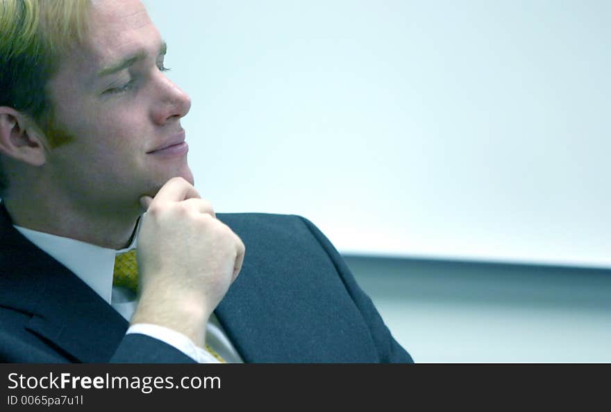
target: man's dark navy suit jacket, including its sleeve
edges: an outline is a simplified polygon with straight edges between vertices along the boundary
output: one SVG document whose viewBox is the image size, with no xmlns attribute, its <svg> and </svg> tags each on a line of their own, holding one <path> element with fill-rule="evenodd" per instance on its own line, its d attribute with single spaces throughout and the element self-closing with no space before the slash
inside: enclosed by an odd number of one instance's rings
<svg viewBox="0 0 611 412">
<path fill-rule="evenodd" d="M 12 227 L 0 205 L 0 362 L 186 363 Z M 292 215 L 222 214 L 246 256 L 215 313 L 248 363 L 411 362 L 333 245 Z"/>
</svg>

